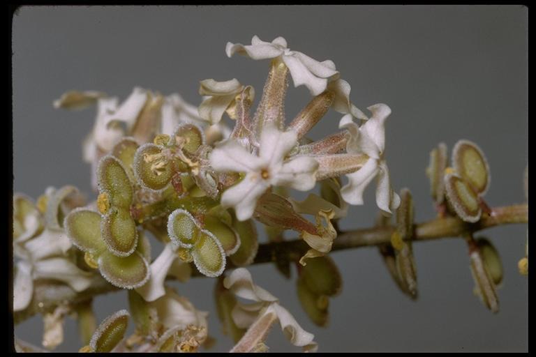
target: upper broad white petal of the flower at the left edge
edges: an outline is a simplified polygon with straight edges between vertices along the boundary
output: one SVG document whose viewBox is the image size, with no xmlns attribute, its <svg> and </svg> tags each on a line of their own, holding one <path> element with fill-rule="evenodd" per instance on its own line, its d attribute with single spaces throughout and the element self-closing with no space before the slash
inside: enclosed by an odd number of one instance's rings
<svg viewBox="0 0 536 357">
<path fill-rule="evenodd" d="M 71 247 L 69 237 L 64 231 L 45 229 L 43 233 L 24 245 L 33 261 L 53 255 L 64 255 Z"/>
</svg>

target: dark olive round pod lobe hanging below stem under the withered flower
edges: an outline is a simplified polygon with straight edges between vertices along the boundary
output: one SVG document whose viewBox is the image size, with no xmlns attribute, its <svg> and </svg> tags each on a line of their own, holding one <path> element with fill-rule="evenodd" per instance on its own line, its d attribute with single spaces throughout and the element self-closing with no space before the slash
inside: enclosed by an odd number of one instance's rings
<svg viewBox="0 0 536 357">
<path fill-rule="evenodd" d="M 343 287 L 343 279 L 337 266 L 326 255 L 308 259 L 300 275 L 308 289 L 317 295 L 334 296 L 339 294 Z"/>
</svg>

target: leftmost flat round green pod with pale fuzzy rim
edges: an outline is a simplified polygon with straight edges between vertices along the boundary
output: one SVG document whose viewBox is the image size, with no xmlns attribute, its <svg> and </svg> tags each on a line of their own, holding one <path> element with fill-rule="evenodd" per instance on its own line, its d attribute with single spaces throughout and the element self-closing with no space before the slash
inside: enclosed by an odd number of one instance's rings
<svg viewBox="0 0 536 357">
<path fill-rule="evenodd" d="M 102 216 L 95 211 L 75 208 L 64 220 L 64 227 L 70 241 L 83 252 L 99 255 L 106 250 L 101 236 Z"/>
</svg>

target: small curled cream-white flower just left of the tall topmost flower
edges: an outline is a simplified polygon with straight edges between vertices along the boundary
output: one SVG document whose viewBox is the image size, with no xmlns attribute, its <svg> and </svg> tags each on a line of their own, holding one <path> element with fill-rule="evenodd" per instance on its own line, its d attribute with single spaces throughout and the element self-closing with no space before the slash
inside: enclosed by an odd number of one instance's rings
<svg viewBox="0 0 536 357">
<path fill-rule="evenodd" d="M 219 123 L 227 108 L 244 86 L 233 78 L 225 82 L 217 82 L 214 79 L 204 79 L 200 82 L 199 93 L 204 97 L 199 105 L 199 115 L 211 124 Z"/>
</svg>

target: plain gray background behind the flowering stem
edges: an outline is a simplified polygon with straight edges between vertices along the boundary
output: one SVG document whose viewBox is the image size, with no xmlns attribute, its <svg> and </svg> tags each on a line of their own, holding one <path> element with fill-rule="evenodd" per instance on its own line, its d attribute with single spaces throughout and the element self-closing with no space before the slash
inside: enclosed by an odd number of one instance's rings
<svg viewBox="0 0 536 357">
<path fill-rule="evenodd" d="M 198 105 L 200 80 L 236 77 L 255 87 L 258 100 L 268 61 L 228 59 L 224 52 L 228 41 L 249 44 L 256 34 L 268 41 L 283 36 L 293 50 L 319 61 L 332 59 L 352 85 L 357 107 L 385 102 L 392 108 L 386 132 L 392 184 L 396 190 L 410 188 L 418 222 L 435 215 L 424 169 L 440 141 L 449 152 L 462 138 L 482 147 L 492 173 L 490 205 L 523 202 L 527 16 L 523 6 L 21 8 L 13 20 L 14 190 L 36 198 L 48 185 L 75 184 L 94 199 L 80 144 L 94 124 L 94 109 L 52 107 L 70 89 L 105 91 L 123 100 L 139 85 L 165 94 L 176 91 Z M 309 93 L 303 86 L 290 86 L 288 92 L 285 109 L 292 118 Z M 311 136 L 336 131 L 340 117 L 330 111 Z M 374 190 L 368 188 L 366 205 L 352 208 L 343 228 L 372 224 Z M 293 280 L 285 280 L 274 266 L 251 271 L 315 334 L 320 351 L 527 351 L 528 282 L 516 267 L 526 225 L 485 234 L 498 248 L 505 271 L 497 315 L 472 294 L 461 239 L 415 244 L 417 302 L 399 292 L 375 248 L 335 252 L 345 286 L 331 301 L 328 328 L 308 320 Z M 225 351 L 232 344 L 216 319 L 213 284 L 195 279 L 177 288 L 211 312 L 213 351 Z M 123 307 L 124 292 L 97 298 L 98 320 Z M 68 319 L 66 342 L 58 351 L 80 348 L 75 331 Z M 34 343 L 41 332 L 38 318 L 16 328 L 17 335 Z M 267 343 L 271 351 L 299 350 L 278 328 Z"/>
</svg>

